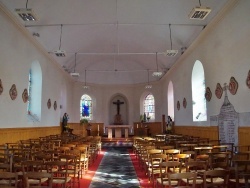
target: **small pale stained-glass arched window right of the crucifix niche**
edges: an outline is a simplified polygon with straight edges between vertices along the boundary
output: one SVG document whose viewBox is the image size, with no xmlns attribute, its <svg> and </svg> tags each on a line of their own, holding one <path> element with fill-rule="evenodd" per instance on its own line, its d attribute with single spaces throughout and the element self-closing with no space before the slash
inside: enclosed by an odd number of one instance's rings
<svg viewBox="0 0 250 188">
<path fill-rule="evenodd" d="M 155 119 L 155 99 L 152 94 L 148 94 L 144 99 L 144 113 L 147 118 Z"/>
</svg>

